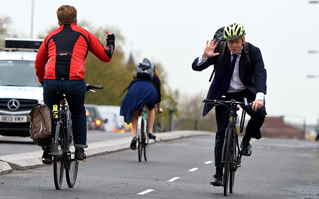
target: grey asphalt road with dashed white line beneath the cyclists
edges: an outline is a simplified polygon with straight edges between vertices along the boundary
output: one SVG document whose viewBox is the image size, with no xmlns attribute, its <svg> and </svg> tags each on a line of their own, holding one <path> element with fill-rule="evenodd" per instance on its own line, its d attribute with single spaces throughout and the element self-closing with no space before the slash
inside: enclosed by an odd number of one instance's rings
<svg viewBox="0 0 319 199">
<path fill-rule="evenodd" d="M 0 175 L 0 197 L 221 198 L 223 189 L 209 184 L 214 140 L 211 135 L 156 142 L 143 162 L 130 149 L 89 157 L 80 163 L 75 187 L 63 182 L 59 191 L 52 166 L 14 170 Z M 319 142 L 262 138 L 252 146 L 228 198 L 319 198 Z"/>
</svg>

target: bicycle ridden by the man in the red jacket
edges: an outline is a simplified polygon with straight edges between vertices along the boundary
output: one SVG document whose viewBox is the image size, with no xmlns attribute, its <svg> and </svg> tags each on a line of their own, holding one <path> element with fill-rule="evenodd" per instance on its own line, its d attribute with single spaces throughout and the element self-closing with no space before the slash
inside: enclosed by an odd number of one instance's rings
<svg viewBox="0 0 319 199">
<path fill-rule="evenodd" d="M 86 91 L 95 92 L 92 89 L 102 89 L 103 86 L 86 84 Z M 56 93 L 60 98 L 60 104 L 53 105 L 52 118 L 52 143 L 51 155 L 53 156 L 54 183 L 57 190 L 61 189 L 63 173 L 67 186 L 75 185 L 79 160 L 75 159 L 75 148 L 73 146 L 73 132 L 71 113 L 66 102 L 65 93 Z"/>
</svg>

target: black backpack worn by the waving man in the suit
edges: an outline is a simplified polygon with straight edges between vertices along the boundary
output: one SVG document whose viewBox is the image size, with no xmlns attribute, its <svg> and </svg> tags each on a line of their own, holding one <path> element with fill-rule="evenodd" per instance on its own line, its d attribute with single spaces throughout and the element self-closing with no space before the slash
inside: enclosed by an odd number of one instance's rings
<svg viewBox="0 0 319 199">
<path fill-rule="evenodd" d="M 227 42 L 224 40 L 224 28 L 225 27 L 219 28 L 214 34 L 214 40 L 216 40 L 216 41 L 218 41 L 218 43 L 220 43 L 220 48 L 219 48 L 219 57 L 218 57 L 218 60 L 216 61 L 216 63 L 214 64 L 214 70 L 212 70 L 211 76 L 209 78 L 209 82 L 211 81 L 211 78 L 214 75 L 216 68 L 220 65 L 220 62 L 223 59 L 223 56 L 225 53 Z M 250 56 L 250 52 L 249 52 L 249 45 L 247 42 L 244 43 L 243 53 L 244 53 L 244 57 L 246 59 L 246 62 L 249 65 L 249 66 L 247 66 L 246 69 L 251 69 L 251 56 Z"/>
</svg>

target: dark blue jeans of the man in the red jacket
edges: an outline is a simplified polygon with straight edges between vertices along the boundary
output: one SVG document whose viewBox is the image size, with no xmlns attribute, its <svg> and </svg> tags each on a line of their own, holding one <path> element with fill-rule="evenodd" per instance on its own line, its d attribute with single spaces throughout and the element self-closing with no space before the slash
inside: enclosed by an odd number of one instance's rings
<svg viewBox="0 0 319 199">
<path fill-rule="evenodd" d="M 44 103 L 52 109 L 59 104 L 59 98 L 54 94 L 66 93 L 66 101 L 72 113 L 72 130 L 75 147 L 87 148 L 86 145 L 86 116 L 85 116 L 85 81 L 83 80 L 44 80 Z"/>
</svg>

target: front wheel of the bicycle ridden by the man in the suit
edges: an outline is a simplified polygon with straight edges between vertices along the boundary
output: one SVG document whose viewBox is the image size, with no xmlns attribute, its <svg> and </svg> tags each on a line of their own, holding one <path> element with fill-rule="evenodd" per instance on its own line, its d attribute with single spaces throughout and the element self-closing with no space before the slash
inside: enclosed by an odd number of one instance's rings
<svg viewBox="0 0 319 199">
<path fill-rule="evenodd" d="M 231 139 L 232 139 L 232 129 L 227 128 L 226 130 L 227 141 L 225 146 L 225 157 L 224 157 L 224 174 L 223 174 L 223 187 L 224 187 L 224 196 L 227 196 L 228 190 L 228 180 L 229 180 L 229 157 L 231 156 Z"/>
</svg>

